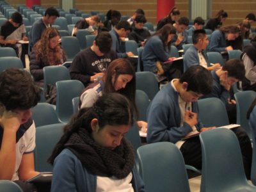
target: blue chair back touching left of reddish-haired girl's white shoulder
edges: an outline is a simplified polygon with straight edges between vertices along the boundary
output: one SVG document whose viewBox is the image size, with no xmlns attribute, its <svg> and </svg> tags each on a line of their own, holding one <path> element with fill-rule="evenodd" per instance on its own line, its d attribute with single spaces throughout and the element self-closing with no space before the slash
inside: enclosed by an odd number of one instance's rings
<svg viewBox="0 0 256 192">
<path fill-rule="evenodd" d="M 83 83 L 78 80 L 58 81 L 56 83 L 57 100 L 56 112 L 61 122 L 68 122 L 73 115 L 72 99 L 79 97 L 84 89 Z M 68 90 L 68 92 L 67 92 Z"/>
</svg>

